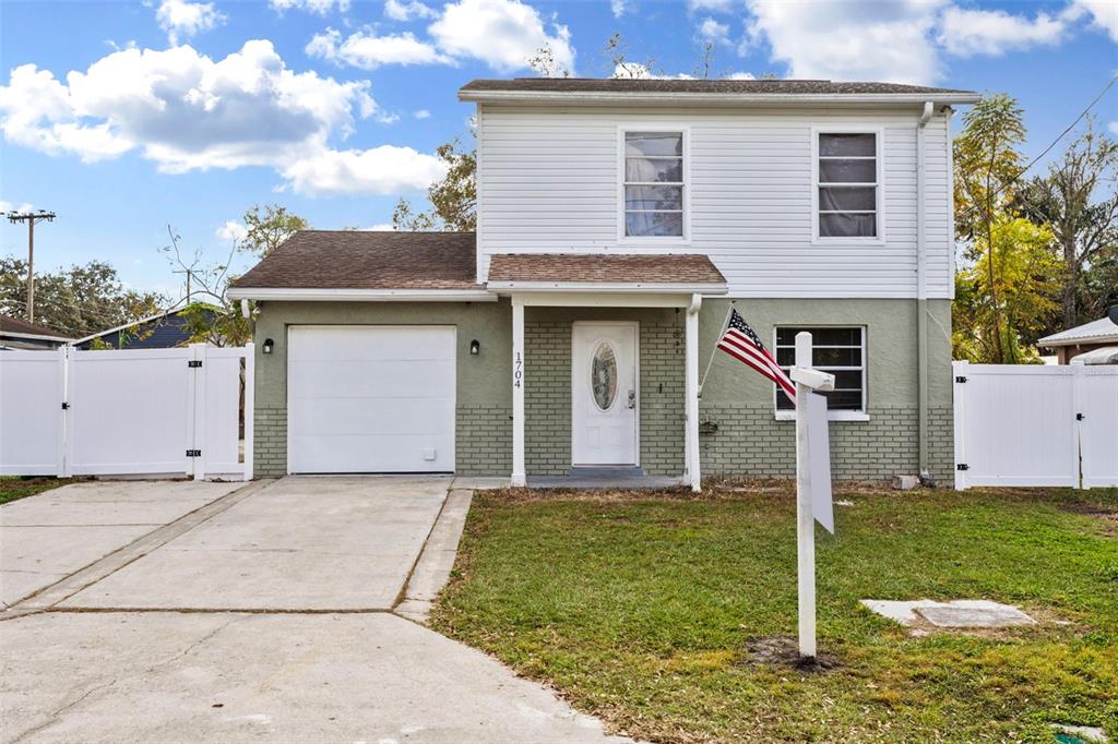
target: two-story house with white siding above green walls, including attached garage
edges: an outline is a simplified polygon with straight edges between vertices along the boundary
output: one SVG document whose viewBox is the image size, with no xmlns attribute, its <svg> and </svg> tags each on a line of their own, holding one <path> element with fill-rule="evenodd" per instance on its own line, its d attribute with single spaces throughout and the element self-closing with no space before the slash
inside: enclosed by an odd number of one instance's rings
<svg viewBox="0 0 1118 744">
<path fill-rule="evenodd" d="M 258 303 L 256 473 L 794 475 L 731 305 L 834 372 L 844 479 L 954 471 L 950 117 L 964 90 L 474 80 L 477 233 L 292 237 Z M 710 363 L 700 398 L 699 383 Z"/>
</svg>

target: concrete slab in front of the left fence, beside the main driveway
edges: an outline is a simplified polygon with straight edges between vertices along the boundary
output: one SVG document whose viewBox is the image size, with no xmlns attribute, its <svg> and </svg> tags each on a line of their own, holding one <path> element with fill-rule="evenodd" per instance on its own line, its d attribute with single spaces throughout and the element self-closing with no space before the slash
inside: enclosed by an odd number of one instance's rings
<svg viewBox="0 0 1118 744">
<path fill-rule="evenodd" d="M 97 480 L 0 506 L 0 600 L 12 604 L 241 483 Z"/>
</svg>

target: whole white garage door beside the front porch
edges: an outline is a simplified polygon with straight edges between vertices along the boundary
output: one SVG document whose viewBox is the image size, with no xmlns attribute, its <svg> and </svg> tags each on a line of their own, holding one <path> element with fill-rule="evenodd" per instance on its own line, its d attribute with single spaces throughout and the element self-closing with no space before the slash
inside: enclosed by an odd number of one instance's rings
<svg viewBox="0 0 1118 744">
<path fill-rule="evenodd" d="M 453 326 L 287 332 L 291 473 L 454 470 Z"/>
</svg>

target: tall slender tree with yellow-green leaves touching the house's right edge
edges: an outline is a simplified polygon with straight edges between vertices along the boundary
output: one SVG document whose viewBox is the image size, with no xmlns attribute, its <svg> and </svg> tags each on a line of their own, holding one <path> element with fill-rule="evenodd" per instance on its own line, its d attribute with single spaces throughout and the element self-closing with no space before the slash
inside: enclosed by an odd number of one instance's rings
<svg viewBox="0 0 1118 744">
<path fill-rule="evenodd" d="M 984 305 L 989 315 L 993 361 L 1003 364 L 1011 356 L 1006 340 L 1003 301 L 998 292 L 1005 283 L 997 276 L 1006 265 L 992 254 L 1004 241 L 994 237 L 994 226 L 1010 214 L 1013 184 L 1024 170 L 1018 147 L 1025 140 L 1021 106 L 1012 96 L 998 93 L 982 98 L 963 117 L 964 128 L 955 140 L 955 225 L 967 242 L 966 257 L 982 264 L 987 275 L 982 292 L 989 293 Z"/>
</svg>

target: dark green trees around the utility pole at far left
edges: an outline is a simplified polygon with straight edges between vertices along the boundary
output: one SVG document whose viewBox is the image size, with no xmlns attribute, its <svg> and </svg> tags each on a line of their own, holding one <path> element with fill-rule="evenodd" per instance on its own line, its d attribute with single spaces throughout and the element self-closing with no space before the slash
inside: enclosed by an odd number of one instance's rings
<svg viewBox="0 0 1118 744">
<path fill-rule="evenodd" d="M 126 289 L 104 261 L 35 275 L 36 323 L 74 338 L 154 315 L 168 304 L 158 293 Z M 27 261 L 12 256 L 0 257 L 0 313 L 27 313 Z"/>
</svg>

